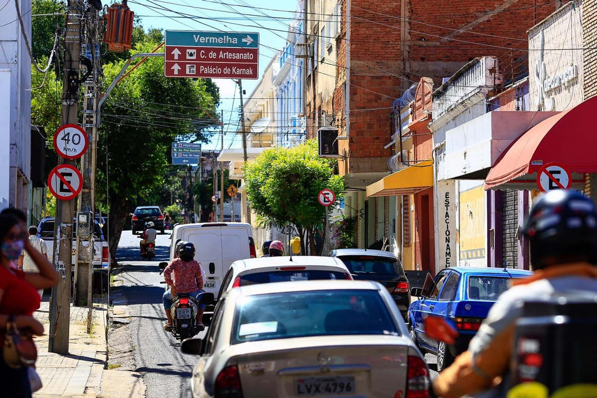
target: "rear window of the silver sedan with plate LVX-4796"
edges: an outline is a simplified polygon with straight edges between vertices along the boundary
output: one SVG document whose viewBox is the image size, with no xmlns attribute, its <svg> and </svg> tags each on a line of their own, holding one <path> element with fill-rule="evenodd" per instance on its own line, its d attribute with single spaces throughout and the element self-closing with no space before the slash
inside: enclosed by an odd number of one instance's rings
<svg viewBox="0 0 597 398">
<path fill-rule="evenodd" d="M 286 292 L 241 298 L 230 343 L 325 335 L 399 332 L 378 291 Z"/>
</svg>

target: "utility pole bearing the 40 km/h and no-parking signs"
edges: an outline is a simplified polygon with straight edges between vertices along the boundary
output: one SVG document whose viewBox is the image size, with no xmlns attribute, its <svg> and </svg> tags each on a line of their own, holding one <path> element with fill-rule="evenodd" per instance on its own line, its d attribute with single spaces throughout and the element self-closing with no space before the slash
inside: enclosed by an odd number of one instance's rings
<svg viewBox="0 0 597 398">
<path fill-rule="evenodd" d="M 64 87 L 62 94 L 62 125 L 76 124 L 79 97 L 79 53 L 81 52 L 81 11 L 79 0 L 69 0 L 64 36 Z M 75 161 L 63 159 L 63 164 L 75 166 Z M 69 353 L 70 277 L 72 274 L 72 227 L 75 199 L 57 200 L 54 222 L 54 258 L 62 282 L 52 288 L 50 300 L 50 338 L 48 351 Z"/>
</svg>

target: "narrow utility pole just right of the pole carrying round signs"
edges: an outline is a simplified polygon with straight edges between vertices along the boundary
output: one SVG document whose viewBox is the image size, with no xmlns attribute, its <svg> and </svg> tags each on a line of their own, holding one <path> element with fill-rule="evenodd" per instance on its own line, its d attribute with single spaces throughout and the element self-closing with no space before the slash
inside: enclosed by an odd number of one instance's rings
<svg viewBox="0 0 597 398">
<path fill-rule="evenodd" d="M 76 268 L 75 268 L 75 288 L 73 289 L 73 304 L 78 307 L 93 307 L 93 248 L 95 229 L 93 220 L 95 218 L 95 197 L 96 197 L 96 156 L 97 156 L 97 128 L 99 118 L 97 117 L 97 104 L 99 101 L 99 75 L 100 59 L 99 51 L 95 51 L 96 45 L 99 45 L 99 14 L 91 10 L 89 16 L 84 20 L 83 30 L 85 41 L 91 45 L 87 47 L 82 45 L 81 52 L 87 53 L 91 60 L 91 75 L 84 82 L 85 98 L 83 109 L 83 128 L 87 132 L 89 147 L 87 152 L 81 158 L 81 174 L 83 176 L 83 187 L 81 198 L 79 199 L 79 211 L 87 212 L 91 215 L 89 240 L 84 240 L 77 236 L 76 240 Z M 89 51 L 87 51 L 89 50 Z M 101 255 L 101 253 L 100 253 Z M 85 303 L 87 302 L 87 303 Z M 91 315 L 91 310 L 90 310 Z"/>
</svg>

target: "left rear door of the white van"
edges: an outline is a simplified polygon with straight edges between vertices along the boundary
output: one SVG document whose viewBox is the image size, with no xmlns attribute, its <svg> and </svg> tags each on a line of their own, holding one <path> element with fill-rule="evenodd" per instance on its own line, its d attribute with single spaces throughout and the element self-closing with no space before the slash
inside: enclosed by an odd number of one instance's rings
<svg viewBox="0 0 597 398">
<path fill-rule="evenodd" d="M 181 234 L 182 240 L 195 245 L 195 260 L 201 263 L 207 280 L 203 289 L 217 296 L 224 274 L 222 272 L 221 227 L 186 228 Z"/>
</svg>

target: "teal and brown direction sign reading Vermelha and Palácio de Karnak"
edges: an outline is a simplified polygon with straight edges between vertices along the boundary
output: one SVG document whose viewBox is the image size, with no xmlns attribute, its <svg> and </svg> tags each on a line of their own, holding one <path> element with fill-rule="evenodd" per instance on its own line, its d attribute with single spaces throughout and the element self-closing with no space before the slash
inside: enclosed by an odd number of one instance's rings
<svg viewBox="0 0 597 398">
<path fill-rule="evenodd" d="M 166 30 L 167 78 L 259 79 L 259 33 Z"/>
</svg>

